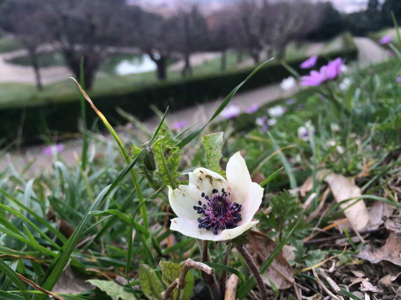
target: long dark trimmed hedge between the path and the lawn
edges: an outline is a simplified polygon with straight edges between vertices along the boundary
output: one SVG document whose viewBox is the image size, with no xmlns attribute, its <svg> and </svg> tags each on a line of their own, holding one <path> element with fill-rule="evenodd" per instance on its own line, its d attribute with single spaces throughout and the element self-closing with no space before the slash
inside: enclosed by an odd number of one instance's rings
<svg viewBox="0 0 401 300">
<path fill-rule="evenodd" d="M 357 49 L 352 37 L 344 35 L 344 49 L 319 57 L 317 66 L 326 64 L 328 59 L 335 57 L 353 60 L 356 56 Z M 287 61 L 287 63 L 300 74 L 305 74 L 309 70 L 299 67 L 299 64 L 304 59 L 306 57 Z M 253 68 L 244 68 L 233 72 L 193 76 L 174 82 L 156 83 L 141 89 L 118 90 L 112 94 L 90 94 L 90 96 L 108 120 L 112 124 L 118 124 L 118 120 L 121 117 L 115 110 L 117 106 L 143 119 L 152 114 L 152 110 L 149 108 L 150 104 L 155 105 L 162 111 L 165 110 L 167 105 L 170 106 L 171 110 L 174 110 L 197 102 L 226 96 L 252 70 Z M 279 61 L 272 61 L 260 69 L 241 90 L 278 82 L 289 75 L 287 69 Z M 21 142 L 25 144 L 41 142 L 42 139 L 40 139 L 39 135 L 44 132 L 45 124 L 51 131 L 77 132 L 81 111 L 78 92 L 76 98 L 63 98 L 55 95 L 55 97 L 47 101 L 47 103 L 37 106 L 0 109 L 2 122 L 0 136 L 5 137 L 8 142 L 13 141 L 17 137 L 21 119 L 24 115 Z M 87 119 L 88 124 L 91 124 L 96 119 L 96 115 L 89 105 L 87 105 Z"/>
</svg>

